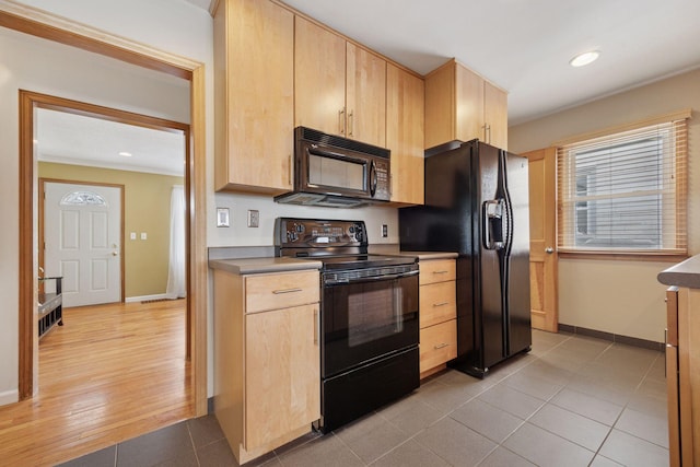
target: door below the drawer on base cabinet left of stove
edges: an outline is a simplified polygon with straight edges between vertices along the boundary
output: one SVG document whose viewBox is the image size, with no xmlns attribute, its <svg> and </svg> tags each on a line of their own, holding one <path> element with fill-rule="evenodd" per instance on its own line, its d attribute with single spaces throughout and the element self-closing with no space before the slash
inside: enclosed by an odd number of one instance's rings
<svg viewBox="0 0 700 467">
<path fill-rule="evenodd" d="M 245 448 L 320 417 L 318 305 L 245 316 Z"/>
</svg>

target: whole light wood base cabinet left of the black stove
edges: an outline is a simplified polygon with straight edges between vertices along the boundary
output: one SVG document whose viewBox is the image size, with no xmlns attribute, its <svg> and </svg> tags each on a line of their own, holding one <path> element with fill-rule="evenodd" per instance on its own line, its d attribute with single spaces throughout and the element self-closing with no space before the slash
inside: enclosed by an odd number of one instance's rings
<svg viewBox="0 0 700 467">
<path fill-rule="evenodd" d="M 319 277 L 213 273 L 214 412 L 243 464 L 320 417 Z"/>
</svg>

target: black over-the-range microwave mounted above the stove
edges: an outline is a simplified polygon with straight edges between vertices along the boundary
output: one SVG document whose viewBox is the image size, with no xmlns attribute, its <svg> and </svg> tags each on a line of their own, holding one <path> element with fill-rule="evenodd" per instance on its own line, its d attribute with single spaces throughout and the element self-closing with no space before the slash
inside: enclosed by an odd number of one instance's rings
<svg viewBox="0 0 700 467">
<path fill-rule="evenodd" d="M 294 129 L 294 190 L 277 202 L 354 208 L 390 199 L 390 151 L 306 127 Z"/>
</svg>

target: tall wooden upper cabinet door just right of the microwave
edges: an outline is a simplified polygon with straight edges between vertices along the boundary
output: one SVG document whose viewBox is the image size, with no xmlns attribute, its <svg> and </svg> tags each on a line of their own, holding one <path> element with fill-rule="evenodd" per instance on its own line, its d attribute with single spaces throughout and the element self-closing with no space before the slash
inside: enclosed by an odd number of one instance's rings
<svg viewBox="0 0 700 467">
<path fill-rule="evenodd" d="M 422 205 L 423 80 L 386 66 L 386 147 L 392 150 L 392 201 Z"/>
</svg>

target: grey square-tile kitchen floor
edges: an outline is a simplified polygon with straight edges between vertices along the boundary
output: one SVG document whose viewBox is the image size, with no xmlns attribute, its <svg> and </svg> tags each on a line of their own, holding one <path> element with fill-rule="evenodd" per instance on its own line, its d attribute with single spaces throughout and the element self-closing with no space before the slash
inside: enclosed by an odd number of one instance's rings
<svg viewBox="0 0 700 467">
<path fill-rule="evenodd" d="M 63 466 L 235 466 L 213 416 Z M 249 465 L 667 466 L 664 355 L 568 334 L 485 380 L 447 371 L 334 433 L 310 434 Z"/>
</svg>

